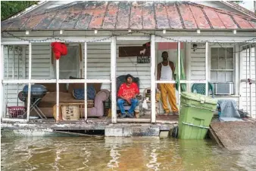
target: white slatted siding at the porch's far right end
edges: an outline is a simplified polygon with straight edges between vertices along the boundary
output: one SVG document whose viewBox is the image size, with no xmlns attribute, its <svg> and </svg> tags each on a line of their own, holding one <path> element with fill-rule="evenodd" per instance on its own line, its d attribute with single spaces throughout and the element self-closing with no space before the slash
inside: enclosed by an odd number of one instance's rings
<svg viewBox="0 0 256 171">
<path fill-rule="evenodd" d="M 249 50 L 243 50 L 241 56 L 242 57 L 242 79 L 250 78 L 249 75 Z M 247 63 L 246 63 L 247 59 Z M 251 79 L 255 80 L 255 48 L 251 48 Z M 246 67 L 247 65 L 247 67 Z M 250 85 L 242 84 L 242 108 L 248 112 L 250 112 L 250 107 L 252 107 L 252 115 L 256 118 L 256 101 L 255 101 L 255 84 L 251 84 L 252 90 L 252 102 L 250 104 Z M 246 93 L 247 93 L 247 103 L 246 103 Z M 246 105 L 247 104 L 247 105 Z"/>
</svg>

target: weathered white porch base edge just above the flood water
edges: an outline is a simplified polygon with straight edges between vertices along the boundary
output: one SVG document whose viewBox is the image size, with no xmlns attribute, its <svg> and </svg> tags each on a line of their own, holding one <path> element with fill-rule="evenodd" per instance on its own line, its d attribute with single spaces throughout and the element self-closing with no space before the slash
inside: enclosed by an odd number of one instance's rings
<svg viewBox="0 0 256 171">
<path fill-rule="evenodd" d="M 177 124 L 177 116 L 157 118 L 155 124 L 150 124 L 150 116 L 141 119 L 117 119 L 112 124 L 111 118 L 88 118 L 87 121 L 60 121 L 55 119 L 30 120 L 22 122 L 13 119 L 2 121 L 2 137 L 10 136 L 161 136 L 170 133 Z"/>
</svg>

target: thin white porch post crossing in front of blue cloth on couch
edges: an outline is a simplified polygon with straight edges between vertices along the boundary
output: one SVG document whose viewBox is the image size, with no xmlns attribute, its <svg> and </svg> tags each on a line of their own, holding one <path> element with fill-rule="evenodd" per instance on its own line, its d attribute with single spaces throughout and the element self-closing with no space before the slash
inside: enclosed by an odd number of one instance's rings
<svg viewBox="0 0 256 171">
<path fill-rule="evenodd" d="M 87 120 L 87 43 L 84 43 L 84 120 Z"/>
</svg>

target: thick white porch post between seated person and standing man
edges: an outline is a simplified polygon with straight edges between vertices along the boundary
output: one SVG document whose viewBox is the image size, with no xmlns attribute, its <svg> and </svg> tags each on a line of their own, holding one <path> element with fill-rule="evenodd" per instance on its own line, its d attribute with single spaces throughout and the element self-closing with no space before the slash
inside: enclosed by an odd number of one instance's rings
<svg viewBox="0 0 256 171">
<path fill-rule="evenodd" d="M 151 35 L 151 123 L 155 123 L 155 35 Z"/>
</svg>

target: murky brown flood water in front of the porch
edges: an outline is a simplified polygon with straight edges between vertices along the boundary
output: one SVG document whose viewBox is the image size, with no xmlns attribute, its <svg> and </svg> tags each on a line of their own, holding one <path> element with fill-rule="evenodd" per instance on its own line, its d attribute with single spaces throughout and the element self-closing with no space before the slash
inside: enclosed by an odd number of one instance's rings
<svg viewBox="0 0 256 171">
<path fill-rule="evenodd" d="M 255 147 L 227 151 L 211 140 L 2 138 L 2 170 L 256 170 Z"/>
</svg>

